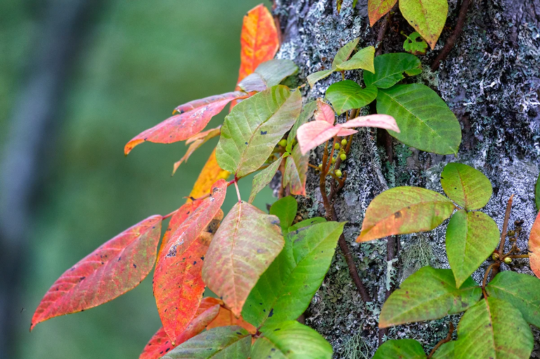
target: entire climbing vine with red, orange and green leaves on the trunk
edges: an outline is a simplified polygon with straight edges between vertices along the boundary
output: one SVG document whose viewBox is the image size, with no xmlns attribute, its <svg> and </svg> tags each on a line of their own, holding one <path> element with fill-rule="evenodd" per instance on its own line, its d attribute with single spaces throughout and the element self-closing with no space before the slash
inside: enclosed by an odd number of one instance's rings
<svg viewBox="0 0 540 359">
<path fill-rule="evenodd" d="M 337 244 L 360 297 L 373 302 L 333 203 L 347 186 L 343 165 L 350 156 L 354 129 L 379 128 L 406 146 L 431 153 L 457 155 L 461 144 L 461 127 L 446 103 L 430 87 L 409 80 L 422 72 L 415 55 L 425 53 L 428 45 L 435 49 L 448 4 L 400 0 L 401 14 L 416 31 L 404 33 L 406 52 L 382 54 L 380 42 L 396 4 L 397 0 L 370 0 L 371 25 L 381 21 L 379 42 L 357 49 L 359 39 L 352 39 L 335 54 L 330 69 L 310 74 L 307 84 L 297 88 L 286 85 L 297 74 L 297 65 L 274 58 L 279 36 L 271 13 L 262 5 L 253 8 L 244 18 L 236 91 L 178 106 L 171 118 L 124 147 L 127 155 L 145 141 L 186 141 L 190 146 L 174 163 L 174 174 L 193 151 L 219 136 L 186 203 L 169 215 L 153 215 L 126 229 L 68 269 L 39 303 L 30 329 L 52 317 L 113 300 L 137 286 L 155 265 L 153 291 L 162 328 L 144 347 L 141 359 L 331 358 L 330 344 L 301 318 L 323 282 Z M 338 11 L 341 6 L 338 1 Z M 454 33 L 433 70 L 458 38 L 467 6 L 463 1 Z M 363 83 L 345 80 L 347 71 L 361 71 Z M 324 98 L 302 99 L 302 87 L 334 72 L 342 73 L 342 81 L 331 84 Z M 205 130 L 229 103 L 231 111 L 223 125 Z M 368 108 L 371 114 L 366 114 Z M 321 162 L 309 163 L 310 151 L 317 148 L 322 148 Z M 387 153 L 391 160 L 391 147 Z M 325 213 L 297 221 L 294 196 L 306 195 L 308 170 L 319 176 Z M 251 203 L 278 171 L 281 199 L 268 214 Z M 238 187 L 253 172 L 257 174 L 250 197 L 243 201 Z M 434 229 L 451 217 L 446 229 L 451 269 L 420 268 L 400 289 L 387 291 L 379 319 L 380 347 L 373 358 L 529 358 L 533 348 L 529 324 L 540 326 L 536 310 L 540 282 L 499 268 L 501 263 L 529 258 L 532 270 L 540 275 L 533 250 L 540 246 L 540 214 L 530 234 L 529 254 L 515 245 L 520 223 L 513 232 L 507 231 L 511 198 L 502 234 L 479 211 L 491 197 L 491 184 L 482 172 L 449 163 L 441 184 L 447 197 L 428 189 L 396 187 L 377 196 L 366 211 L 357 241 L 388 238 L 389 261 L 395 256 L 395 236 Z M 238 203 L 225 215 L 221 205 L 228 187 L 235 187 Z M 229 196 L 235 195 L 232 192 L 229 189 Z M 505 253 L 507 237 L 512 246 Z M 493 263 L 478 284 L 470 276 L 487 258 Z M 217 297 L 203 298 L 206 288 Z M 385 328 L 392 325 L 461 312 L 465 314 L 457 340 L 452 340 L 450 323 L 449 336 L 428 355 L 411 339 L 385 341 Z M 508 330 L 515 335 L 507 336 Z"/>
</svg>

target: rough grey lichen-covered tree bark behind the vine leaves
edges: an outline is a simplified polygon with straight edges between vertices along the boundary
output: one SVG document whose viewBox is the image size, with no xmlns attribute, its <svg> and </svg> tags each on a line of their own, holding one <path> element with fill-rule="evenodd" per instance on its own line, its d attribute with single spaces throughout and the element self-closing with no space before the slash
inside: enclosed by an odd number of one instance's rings
<svg viewBox="0 0 540 359">
<path fill-rule="evenodd" d="M 435 89 L 461 122 L 463 141 L 458 159 L 409 149 L 393 140 L 394 162 L 390 164 L 384 146 L 378 144 L 377 131 L 361 129 L 342 167 L 347 171 L 347 184 L 336 196 L 335 207 L 338 219 L 347 221 L 347 241 L 375 301 L 361 301 L 345 261 L 340 254 L 336 256 L 306 313 L 307 325 L 326 336 L 334 347 L 335 358 L 373 356 L 378 341 L 378 313 L 387 286 L 399 285 L 423 265 L 449 267 L 444 249 L 446 223 L 432 232 L 399 236 L 398 270 L 392 270 L 392 263 L 387 263 L 385 240 L 361 245 L 354 242 L 368 204 L 385 189 L 410 185 L 442 193 L 439 175 L 446 163 L 459 160 L 473 165 L 491 180 L 494 195 L 483 211 L 496 220 L 499 229 L 506 201 L 510 194 L 515 194 L 509 229 L 515 220 L 525 220 L 518 246 L 527 248 L 536 215 L 534 183 L 540 163 L 540 1 L 473 1 L 461 37 L 440 70 L 431 73 L 432 61 L 456 24 L 459 4 L 449 1 L 449 18 L 437 48 L 420 56 L 425 70 L 409 80 Z M 352 8 L 352 0 L 343 1 L 339 15 L 335 0 L 277 0 L 275 5 L 274 13 L 283 31 L 278 57 L 290 58 L 300 66 L 301 83 L 310 73 L 330 68 L 335 52 L 350 39 L 360 37 L 359 47 L 377 43 L 382 20 L 369 27 L 367 0 L 358 1 L 356 8 Z M 409 34 L 413 29 L 397 11 L 383 40 L 383 53 L 403 51 L 405 37 L 401 31 Z M 326 88 L 340 77 L 340 73 L 334 73 L 313 89 L 304 87 L 305 98 L 323 96 Z M 361 73 L 349 71 L 346 77 L 359 81 Z M 320 161 L 321 151 L 315 151 L 310 162 Z M 299 198 L 302 216 L 323 215 L 318 177 L 311 170 L 307 193 L 306 198 Z M 485 265 L 475 272 L 478 282 L 484 269 Z M 513 269 L 530 273 L 527 260 L 515 261 Z M 394 327 L 389 337 L 417 339 L 429 352 L 446 336 L 449 320 L 456 324 L 458 319 L 459 315 L 454 315 Z M 540 358 L 538 343 L 536 340 L 533 358 Z"/>
</svg>

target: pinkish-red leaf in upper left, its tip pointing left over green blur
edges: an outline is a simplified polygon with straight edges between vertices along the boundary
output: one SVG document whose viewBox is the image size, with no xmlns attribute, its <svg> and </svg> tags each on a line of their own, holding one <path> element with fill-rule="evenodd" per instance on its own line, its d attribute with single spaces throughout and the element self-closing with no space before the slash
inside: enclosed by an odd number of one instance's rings
<svg viewBox="0 0 540 359">
<path fill-rule="evenodd" d="M 191 103 L 195 104 L 202 103 L 203 106 L 195 107 L 179 115 L 173 115 L 167 118 L 167 120 L 158 123 L 158 125 L 141 132 L 124 146 L 124 153 L 127 156 L 135 146 L 144 141 L 154 142 L 156 144 L 172 144 L 173 142 L 184 141 L 193 137 L 202 131 L 208 122 L 212 120 L 212 117 L 220 113 L 227 103 L 235 99 L 245 99 L 248 96 L 245 92 L 237 91 L 192 101 Z M 178 108 L 183 110 L 186 105 L 179 106 Z M 193 105 L 187 106 L 187 108 L 191 107 Z"/>
</svg>

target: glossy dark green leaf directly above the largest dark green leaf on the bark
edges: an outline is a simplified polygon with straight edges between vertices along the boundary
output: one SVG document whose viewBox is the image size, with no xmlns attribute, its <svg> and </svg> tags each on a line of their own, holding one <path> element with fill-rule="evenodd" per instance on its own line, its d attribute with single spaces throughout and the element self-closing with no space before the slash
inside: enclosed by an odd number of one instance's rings
<svg viewBox="0 0 540 359">
<path fill-rule="evenodd" d="M 364 83 L 380 89 L 387 89 L 403 80 L 403 73 L 412 76 L 422 72 L 420 60 L 410 53 L 385 53 L 377 56 L 373 65 L 375 74 L 364 73 Z"/>
</svg>

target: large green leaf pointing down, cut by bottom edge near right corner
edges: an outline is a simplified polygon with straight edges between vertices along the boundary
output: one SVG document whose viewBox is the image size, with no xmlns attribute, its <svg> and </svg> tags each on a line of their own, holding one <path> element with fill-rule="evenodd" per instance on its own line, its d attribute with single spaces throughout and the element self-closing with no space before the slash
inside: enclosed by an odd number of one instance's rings
<svg viewBox="0 0 540 359">
<path fill-rule="evenodd" d="M 534 340 L 520 311 L 488 297 L 465 312 L 458 325 L 455 359 L 529 359 Z"/>
</svg>

